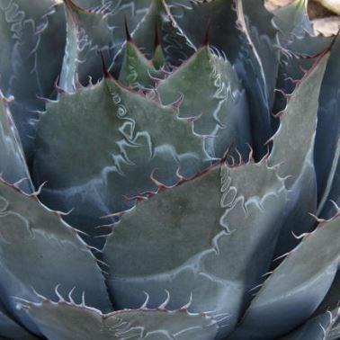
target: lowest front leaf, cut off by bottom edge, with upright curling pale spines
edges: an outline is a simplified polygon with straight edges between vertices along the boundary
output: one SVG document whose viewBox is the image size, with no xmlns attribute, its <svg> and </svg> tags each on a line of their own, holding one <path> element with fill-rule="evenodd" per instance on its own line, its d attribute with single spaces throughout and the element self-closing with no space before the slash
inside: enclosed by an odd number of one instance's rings
<svg viewBox="0 0 340 340">
<path fill-rule="evenodd" d="M 205 315 L 182 310 L 126 309 L 102 314 L 85 303 L 76 305 L 69 300 L 42 300 L 40 303 L 23 302 L 22 308 L 34 319 L 49 340 L 212 340 L 217 332 L 216 323 Z"/>
</svg>

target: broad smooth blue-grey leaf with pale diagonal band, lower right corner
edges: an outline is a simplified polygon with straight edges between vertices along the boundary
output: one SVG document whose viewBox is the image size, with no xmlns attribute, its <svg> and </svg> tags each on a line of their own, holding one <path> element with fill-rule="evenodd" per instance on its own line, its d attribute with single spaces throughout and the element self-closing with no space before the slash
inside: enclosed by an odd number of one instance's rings
<svg viewBox="0 0 340 340">
<path fill-rule="evenodd" d="M 264 282 L 232 340 L 273 339 L 308 319 L 325 298 L 339 266 L 340 216 L 305 236 Z"/>
</svg>

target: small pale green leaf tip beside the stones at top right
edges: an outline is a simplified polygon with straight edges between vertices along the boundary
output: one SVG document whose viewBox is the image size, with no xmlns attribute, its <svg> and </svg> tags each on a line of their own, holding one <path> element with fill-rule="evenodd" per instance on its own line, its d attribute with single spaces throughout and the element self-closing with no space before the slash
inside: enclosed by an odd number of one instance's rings
<svg viewBox="0 0 340 340">
<path fill-rule="evenodd" d="M 276 9 L 273 23 L 288 39 L 292 36 L 304 37 L 305 33 L 314 35 L 307 13 L 308 0 L 294 0 L 291 4 Z M 291 37 L 290 37 L 291 36 Z"/>
</svg>

